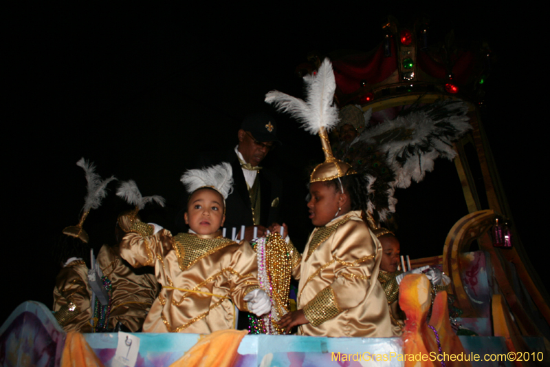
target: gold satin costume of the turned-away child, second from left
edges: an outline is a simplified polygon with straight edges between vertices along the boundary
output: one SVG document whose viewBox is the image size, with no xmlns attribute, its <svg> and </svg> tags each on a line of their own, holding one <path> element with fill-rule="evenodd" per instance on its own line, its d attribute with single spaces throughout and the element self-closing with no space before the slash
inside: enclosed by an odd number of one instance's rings
<svg viewBox="0 0 550 367">
<path fill-rule="evenodd" d="M 120 258 L 118 247 L 103 245 L 97 262 L 112 285 L 108 328 L 114 328 L 120 321 L 131 332 L 139 331 L 157 297 L 157 278 L 128 266 Z"/>
</svg>

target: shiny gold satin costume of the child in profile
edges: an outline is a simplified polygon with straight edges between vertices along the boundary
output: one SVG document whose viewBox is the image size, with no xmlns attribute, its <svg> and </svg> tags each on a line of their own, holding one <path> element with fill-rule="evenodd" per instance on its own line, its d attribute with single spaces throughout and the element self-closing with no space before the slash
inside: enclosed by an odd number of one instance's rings
<svg viewBox="0 0 550 367">
<path fill-rule="evenodd" d="M 382 245 L 360 211 L 350 211 L 314 229 L 303 257 L 290 249 L 300 280 L 298 309 L 309 324 L 300 335 L 392 337 L 386 295 L 378 282 Z"/>
</svg>

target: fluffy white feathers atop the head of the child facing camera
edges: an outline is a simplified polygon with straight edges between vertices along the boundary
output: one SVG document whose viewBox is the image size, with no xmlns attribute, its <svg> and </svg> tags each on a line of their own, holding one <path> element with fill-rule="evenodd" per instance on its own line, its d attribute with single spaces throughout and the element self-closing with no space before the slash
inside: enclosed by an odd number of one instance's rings
<svg viewBox="0 0 550 367">
<path fill-rule="evenodd" d="M 189 169 L 181 176 L 189 193 L 201 187 L 214 187 L 224 199 L 233 191 L 233 170 L 228 162 L 202 169 Z"/>
</svg>

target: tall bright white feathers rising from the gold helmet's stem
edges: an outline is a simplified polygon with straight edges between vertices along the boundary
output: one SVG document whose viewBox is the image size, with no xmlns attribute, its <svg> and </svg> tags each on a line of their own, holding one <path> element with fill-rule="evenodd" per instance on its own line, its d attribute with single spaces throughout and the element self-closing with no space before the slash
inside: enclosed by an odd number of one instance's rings
<svg viewBox="0 0 550 367">
<path fill-rule="evenodd" d="M 338 124 L 338 108 L 333 103 L 336 81 L 329 59 L 322 62 L 316 74 L 304 76 L 304 81 L 305 101 L 272 91 L 265 95 L 265 102 L 275 105 L 279 111 L 289 112 L 311 134 L 319 134 L 321 127 L 329 132 Z"/>
</svg>

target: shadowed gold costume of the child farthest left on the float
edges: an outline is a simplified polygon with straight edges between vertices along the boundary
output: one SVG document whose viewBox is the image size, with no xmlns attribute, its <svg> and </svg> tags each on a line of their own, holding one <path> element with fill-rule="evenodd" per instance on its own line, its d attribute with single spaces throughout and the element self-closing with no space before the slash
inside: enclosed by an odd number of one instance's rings
<svg viewBox="0 0 550 367">
<path fill-rule="evenodd" d="M 91 288 L 84 260 L 65 266 L 56 277 L 54 315 L 65 332 L 91 333 Z"/>
</svg>

